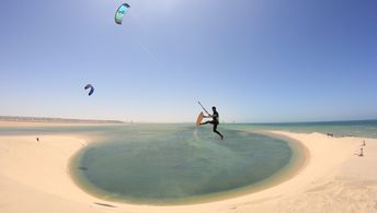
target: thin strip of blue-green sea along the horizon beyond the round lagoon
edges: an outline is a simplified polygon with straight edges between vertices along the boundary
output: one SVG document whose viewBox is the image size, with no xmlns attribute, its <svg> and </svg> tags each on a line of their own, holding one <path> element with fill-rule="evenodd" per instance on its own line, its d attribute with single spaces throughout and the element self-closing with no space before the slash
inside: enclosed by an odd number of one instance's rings
<svg viewBox="0 0 377 213">
<path fill-rule="evenodd" d="M 148 126 L 148 125 L 142 125 Z M 156 126 L 156 125 L 152 125 Z M 169 126 L 169 125 L 167 125 Z M 192 126 L 187 125 L 171 125 L 176 126 Z M 130 129 L 139 126 L 127 126 Z M 220 128 L 236 129 L 236 130 L 283 130 L 292 132 L 332 132 L 335 137 L 364 137 L 377 138 L 377 120 L 356 120 L 356 121 L 324 121 L 324 122 L 281 122 L 281 123 L 221 123 Z M 0 127 L 0 135 L 11 134 L 78 134 L 89 137 L 106 135 L 116 130 L 117 126 L 89 126 L 89 127 Z M 137 131 L 137 130 L 135 130 Z"/>
</svg>

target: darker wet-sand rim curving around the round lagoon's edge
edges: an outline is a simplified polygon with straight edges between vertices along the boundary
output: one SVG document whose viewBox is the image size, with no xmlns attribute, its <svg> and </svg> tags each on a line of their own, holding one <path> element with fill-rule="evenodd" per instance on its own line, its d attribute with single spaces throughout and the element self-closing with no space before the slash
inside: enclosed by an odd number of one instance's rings
<svg viewBox="0 0 377 213">
<path fill-rule="evenodd" d="M 210 202 L 220 202 L 232 198 L 238 198 L 251 193 L 255 193 L 259 191 L 263 191 L 265 189 L 269 189 L 271 187 L 274 187 L 276 185 L 279 185 L 289 178 L 294 177 L 296 174 L 298 174 L 301 169 L 305 168 L 305 166 L 308 163 L 309 159 L 309 151 L 295 139 L 292 139 L 289 137 L 284 137 L 277 133 L 269 132 L 269 131 L 252 131 L 251 133 L 262 134 L 275 139 L 279 139 L 284 142 L 286 142 L 292 150 L 292 156 L 289 162 L 283 166 L 279 170 L 277 170 L 272 176 L 260 180 L 258 182 L 251 184 L 245 187 L 241 188 L 235 188 L 227 191 L 221 192 L 215 192 L 210 194 L 204 194 L 204 196 L 195 196 L 192 198 L 184 198 L 184 199 L 176 199 L 174 201 L 169 201 L 168 203 L 149 203 L 148 201 L 122 201 L 116 199 L 104 199 L 108 192 L 99 189 L 96 186 L 92 185 L 85 177 L 82 175 L 78 175 L 73 171 L 73 169 L 77 169 L 77 166 L 82 157 L 82 152 L 84 152 L 84 147 L 78 150 L 76 153 L 72 154 L 72 156 L 69 159 L 68 163 L 68 169 L 70 174 L 70 178 L 73 180 L 73 182 L 79 187 L 82 191 L 85 193 L 93 196 L 98 199 L 102 199 L 106 202 L 114 202 L 119 204 L 135 204 L 135 205 L 156 205 L 156 206 L 180 206 L 180 205 L 195 205 L 195 204 L 206 204 Z M 94 143 L 102 143 L 102 142 L 94 142 Z M 81 187 L 80 187 L 81 185 Z"/>
</svg>

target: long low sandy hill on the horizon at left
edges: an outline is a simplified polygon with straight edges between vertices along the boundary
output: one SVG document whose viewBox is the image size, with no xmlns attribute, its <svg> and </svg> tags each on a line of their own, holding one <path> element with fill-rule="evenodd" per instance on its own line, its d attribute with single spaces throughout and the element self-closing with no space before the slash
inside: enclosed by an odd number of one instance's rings
<svg viewBox="0 0 377 213">
<path fill-rule="evenodd" d="M 0 121 L 58 122 L 58 123 L 124 123 L 123 121 L 119 121 L 119 120 L 90 120 L 90 119 L 21 117 L 21 116 L 0 116 Z"/>
</svg>

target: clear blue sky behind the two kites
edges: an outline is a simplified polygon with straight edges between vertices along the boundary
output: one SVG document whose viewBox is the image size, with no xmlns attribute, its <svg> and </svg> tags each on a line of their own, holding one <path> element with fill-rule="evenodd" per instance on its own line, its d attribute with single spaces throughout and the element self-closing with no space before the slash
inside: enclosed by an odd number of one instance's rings
<svg viewBox="0 0 377 213">
<path fill-rule="evenodd" d="M 2 0 L 0 115 L 377 118 L 375 0 Z M 95 92 L 88 97 L 83 86 Z"/>
</svg>

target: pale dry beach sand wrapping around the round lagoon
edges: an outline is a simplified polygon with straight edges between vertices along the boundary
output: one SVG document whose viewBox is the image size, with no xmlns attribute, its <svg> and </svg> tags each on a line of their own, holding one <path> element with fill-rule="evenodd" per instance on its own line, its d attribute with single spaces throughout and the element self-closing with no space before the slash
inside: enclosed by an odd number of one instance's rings
<svg viewBox="0 0 377 213">
<path fill-rule="evenodd" d="M 308 149 L 308 163 L 297 175 L 260 192 L 178 206 L 121 204 L 84 193 L 67 170 L 69 158 L 85 145 L 81 139 L 0 137 L 0 212 L 377 212 L 377 139 L 274 133 Z M 361 157 L 355 153 L 363 140 Z"/>
</svg>

